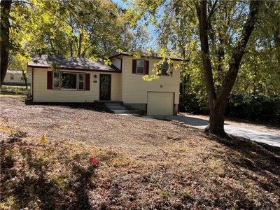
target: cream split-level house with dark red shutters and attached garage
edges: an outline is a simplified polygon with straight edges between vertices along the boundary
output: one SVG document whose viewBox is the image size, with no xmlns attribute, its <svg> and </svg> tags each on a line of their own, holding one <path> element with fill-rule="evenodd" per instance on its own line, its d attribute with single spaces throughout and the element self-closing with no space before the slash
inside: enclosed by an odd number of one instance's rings
<svg viewBox="0 0 280 210">
<path fill-rule="evenodd" d="M 179 109 L 180 71 L 167 73 L 162 65 L 158 79 L 145 81 L 160 57 L 127 52 L 110 57 L 111 66 L 84 58 L 34 57 L 27 64 L 34 102 L 123 102 L 148 115 L 173 115 Z M 181 59 L 172 59 L 178 64 Z M 57 66 L 57 68 L 52 68 Z M 53 70 L 56 69 L 56 70 Z"/>
</svg>

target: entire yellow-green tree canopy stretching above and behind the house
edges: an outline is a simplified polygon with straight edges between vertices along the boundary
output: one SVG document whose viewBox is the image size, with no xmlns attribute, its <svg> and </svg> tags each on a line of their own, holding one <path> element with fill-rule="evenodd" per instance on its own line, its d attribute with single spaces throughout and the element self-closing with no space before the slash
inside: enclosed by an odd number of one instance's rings
<svg viewBox="0 0 280 210">
<path fill-rule="evenodd" d="M 35 53 L 107 59 L 118 50 L 143 50 L 153 26 L 159 64 L 183 59 L 181 95 L 208 101 L 219 130 L 232 94 L 280 95 L 279 1 L 123 1 L 125 8 L 110 0 L 13 1 L 10 8 L 6 2 L 12 1 L 1 1 L 1 54 L 10 52 L 10 66 Z M 157 79 L 153 72 L 144 79 Z"/>
</svg>

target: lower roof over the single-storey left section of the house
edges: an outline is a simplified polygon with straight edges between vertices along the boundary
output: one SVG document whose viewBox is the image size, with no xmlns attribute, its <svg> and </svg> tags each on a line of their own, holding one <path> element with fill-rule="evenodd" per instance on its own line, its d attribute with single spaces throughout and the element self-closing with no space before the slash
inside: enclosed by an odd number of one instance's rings
<svg viewBox="0 0 280 210">
<path fill-rule="evenodd" d="M 92 61 L 87 58 L 69 57 L 67 59 L 60 56 L 53 56 L 48 58 L 47 55 L 35 55 L 27 66 L 37 68 L 50 68 L 53 64 L 57 64 L 59 69 L 71 69 L 71 70 L 86 70 L 86 71 L 109 71 L 109 72 L 121 72 L 113 64 L 107 66 L 102 62 Z"/>
</svg>

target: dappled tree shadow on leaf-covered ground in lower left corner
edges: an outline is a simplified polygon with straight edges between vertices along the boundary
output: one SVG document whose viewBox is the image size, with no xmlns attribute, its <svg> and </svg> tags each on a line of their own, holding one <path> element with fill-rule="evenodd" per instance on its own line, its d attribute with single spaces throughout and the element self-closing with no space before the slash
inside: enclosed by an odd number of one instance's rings
<svg viewBox="0 0 280 210">
<path fill-rule="evenodd" d="M 10 135 L 7 141 L 1 141 L 1 197 L 13 197 L 13 207 L 18 207 L 16 209 L 91 209 L 87 194 L 94 188 L 90 181 L 95 176 L 94 166 L 72 162 L 69 174 L 73 179 L 67 178 L 64 184 L 59 174 L 63 169 L 59 169 L 57 176 L 52 174 L 50 179 L 49 166 L 53 163 L 45 159 L 48 153 L 43 157 L 34 155 L 29 145 L 22 142 L 22 137 L 26 137 L 26 134 L 19 132 Z M 26 162 L 22 167 L 25 172 L 20 174 L 15 170 L 15 162 L 20 160 L 15 160 L 12 151 L 17 146 L 20 146 L 20 155 L 16 158 Z M 38 206 L 34 206 L 34 203 Z"/>
</svg>

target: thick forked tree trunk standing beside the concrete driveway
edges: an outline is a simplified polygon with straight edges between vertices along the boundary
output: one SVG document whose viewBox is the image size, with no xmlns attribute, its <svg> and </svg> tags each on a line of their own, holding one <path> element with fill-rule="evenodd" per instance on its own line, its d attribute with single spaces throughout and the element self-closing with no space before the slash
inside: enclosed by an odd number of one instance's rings
<svg viewBox="0 0 280 210">
<path fill-rule="evenodd" d="M 210 120 L 209 125 L 206 129 L 207 132 L 216 134 L 218 136 L 225 136 L 224 130 L 224 118 L 225 118 L 225 106 L 228 102 L 228 97 L 232 91 L 232 87 L 235 84 L 237 78 L 237 73 L 239 71 L 239 66 L 241 59 L 245 53 L 245 48 L 248 43 L 248 39 L 251 36 L 251 32 L 255 26 L 255 21 L 257 20 L 258 10 L 262 1 L 251 1 L 250 2 L 250 13 L 244 24 L 239 42 L 235 46 L 231 63 L 228 69 L 228 73 L 223 80 L 223 85 L 221 91 L 217 97 L 216 90 L 214 87 L 214 78 L 211 66 L 211 58 L 209 51 L 209 22 L 211 21 L 207 18 L 207 1 L 202 0 L 200 4 L 197 5 L 197 18 L 199 20 L 200 26 L 200 43 L 202 51 L 202 63 L 204 67 L 204 79 L 207 87 L 207 96 L 210 109 Z"/>
</svg>

